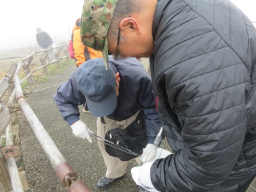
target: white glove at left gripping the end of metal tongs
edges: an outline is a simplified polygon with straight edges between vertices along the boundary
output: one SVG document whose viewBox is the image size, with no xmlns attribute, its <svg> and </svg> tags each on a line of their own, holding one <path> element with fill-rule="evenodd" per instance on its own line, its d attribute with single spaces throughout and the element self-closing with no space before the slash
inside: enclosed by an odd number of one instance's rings
<svg viewBox="0 0 256 192">
<path fill-rule="evenodd" d="M 73 134 L 77 136 L 77 138 L 82 138 L 88 140 L 92 143 L 92 138 L 90 137 L 90 133 L 93 133 L 82 120 L 77 121 L 76 123 L 70 126 L 73 130 Z"/>
</svg>

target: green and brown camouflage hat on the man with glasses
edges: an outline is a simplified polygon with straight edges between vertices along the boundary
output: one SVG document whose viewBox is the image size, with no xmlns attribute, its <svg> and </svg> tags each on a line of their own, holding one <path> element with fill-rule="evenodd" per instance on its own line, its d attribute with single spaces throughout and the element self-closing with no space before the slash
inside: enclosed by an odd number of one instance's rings
<svg viewBox="0 0 256 192">
<path fill-rule="evenodd" d="M 118 0 L 85 0 L 82 13 L 81 40 L 84 45 L 102 51 L 108 68 L 107 33 Z"/>
</svg>

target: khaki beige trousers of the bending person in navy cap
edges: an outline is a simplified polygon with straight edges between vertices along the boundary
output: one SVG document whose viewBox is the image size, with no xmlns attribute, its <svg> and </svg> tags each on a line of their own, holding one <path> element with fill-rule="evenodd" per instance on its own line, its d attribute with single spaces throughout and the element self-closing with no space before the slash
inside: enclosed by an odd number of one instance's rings
<svg viewBox="0 0 256 192">
<path fill-rule="evenodd" d="M 100 118 L 98 118 L 97 119 L 98 136 L 105 138 L 106 132 L 108 132 L 111 129 L 115 129 L 115 128 L 125 129 L 125 127 L 127 127 L 136 119 L 137 115 L 138 115 L 138 112 L 132 115 L 130 118 L 127 118 L 127 120 L 123 120 L 123 121 L 111 120 L 107 117 L 104 117 L 106 124 L 102 124 Z M 99 144 L 100 152 L 103 156 L 104 162 L 107 167 L 106 177 L 109 179 L 115 179 L 117 177 L 123 176 L 126 171 L 127 161 L 121 161 L 118 157 L 109 156 L 109 154 L 105 150 L 104 143 L 98 142 L 98 144 Z M 140 164 L 140 157 L 136 157 L 136 162 Z"/>
</svg>

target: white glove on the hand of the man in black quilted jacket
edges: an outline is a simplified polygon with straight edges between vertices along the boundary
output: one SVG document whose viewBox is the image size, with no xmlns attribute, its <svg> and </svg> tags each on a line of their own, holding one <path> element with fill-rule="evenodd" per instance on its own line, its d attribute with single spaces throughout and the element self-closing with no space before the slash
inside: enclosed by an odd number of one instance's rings
<svg viewBox="0 0 256 192">
<path fill-rule="evenodd" d="M 150 192 L 157 192 L 157 189 L 154 188 L 151 178 L 150 178 L 150 168 L 154 162 L 145 163 L 143 166 L 137 166 L 132 168 L 132 179 L 136 182 L 137 185 L 146 189 Z"/>
</svg>

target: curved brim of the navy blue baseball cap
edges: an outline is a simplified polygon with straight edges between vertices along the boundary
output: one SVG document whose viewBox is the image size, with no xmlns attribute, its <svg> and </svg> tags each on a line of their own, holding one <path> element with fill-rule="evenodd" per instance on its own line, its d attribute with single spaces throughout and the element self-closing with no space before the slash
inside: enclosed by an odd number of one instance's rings
<svg viewBox="0 0 256 192">
<path fill-rule="evenodd" d="M 108 97 L 105 97 L 101 102 L 93 102 L 86 96 L 85 99 L 90 113 L 97 117 L 110 115 L 115 111 L 117 104 L 116 91 L 110 93 Z"/>
</svg>

